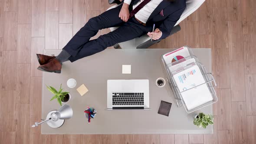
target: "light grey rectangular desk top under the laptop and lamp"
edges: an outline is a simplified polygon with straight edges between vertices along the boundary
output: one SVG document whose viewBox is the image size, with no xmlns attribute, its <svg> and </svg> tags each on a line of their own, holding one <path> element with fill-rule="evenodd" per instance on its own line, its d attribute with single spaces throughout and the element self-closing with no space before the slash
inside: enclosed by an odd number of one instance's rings
<svg viewBox="0 0 256 144">
<path fill-rule="evenodd" d="M 42 118 L 49 111 L 59 109 L 56 100 L 49 101 L 53 96 L 46 84 L 59 88 L 62 83 L 64 91 L 71 94 L 68 102 L 73 109 L 73 117 L 66 120 L 61 128 L 50 128 L 42 124 L 42 134 L 212 134 L 213 127 L 197 128 L 193 117 L 199 111 L 187 114 L 183 107 L 177 108 L 174 98 L 164 88 L 158 88 L 155 80 L 164 77 L 160 56 L 173 49 L 106 49 L 93 56 L 76 62 L 65 62 L 62 73 L 43 73 Z M 193 49 L 194 54 L 211 72 L 211 49 Z M 46 54 L 58 54 L 60 50 L 46 50 Z M 122 74 L 122 65 L 131 65 L 131 74 Z M 69 78 L 77 81 L 75 88 L 68 88 Z M 107 107 L 108 79 L 149 79 L 151 111 L 105 111 Z M 76 91 L 85 84 L 89 89 L 84 96 Z M 159 115 L 160 101 L 168 101 L 173 105 L 169 117 Z M 97 115 L 87 124 L 84 110 L 87 106 L 97 109 Z M 212 105 L 200 109 L 212 114 Z"/>
</svg>

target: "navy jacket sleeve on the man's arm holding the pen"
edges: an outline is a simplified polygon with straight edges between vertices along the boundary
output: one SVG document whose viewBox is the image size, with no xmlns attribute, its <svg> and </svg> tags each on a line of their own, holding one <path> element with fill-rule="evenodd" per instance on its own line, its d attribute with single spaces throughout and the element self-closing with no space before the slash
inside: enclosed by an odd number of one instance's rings
<svg viewBox="0 0 256 144">
<path fill-rule="evenodd" d="M 181 14 L 185 10 L 186 7 L 175 11 L 174 13 L 171 13 L 160 25 L 159 29 L 162 32 L 162 36 L 160 39 L 165 39 L 167 36 L 171 34 L 171 29 L 174 27 L 174 25 L 177 23 L 177 21 L 180 19 Z"/>
</svg>

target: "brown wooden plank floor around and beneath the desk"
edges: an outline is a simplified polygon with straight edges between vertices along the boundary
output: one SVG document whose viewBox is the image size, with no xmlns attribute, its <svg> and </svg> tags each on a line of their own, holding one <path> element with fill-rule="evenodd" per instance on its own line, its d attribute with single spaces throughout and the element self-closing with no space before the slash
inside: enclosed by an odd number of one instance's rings
<svg viewBox="0 0 256 144">
<path fill-rule="evenodd" d="M 206 0 L 180 32 L 152 46 L 212 48 L 214 134 L 41 135 L 40 126 L 30 128 L 41 118 L 35 54 L 61 49 L 108 7 L 107 0 L 0 0 L 0 144 L 256 144 L 255 0 Z"/>
</svg>

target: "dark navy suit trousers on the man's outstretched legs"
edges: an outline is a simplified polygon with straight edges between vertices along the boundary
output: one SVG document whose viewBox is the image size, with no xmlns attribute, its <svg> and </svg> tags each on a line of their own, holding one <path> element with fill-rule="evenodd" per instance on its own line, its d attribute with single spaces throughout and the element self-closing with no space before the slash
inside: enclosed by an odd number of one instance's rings
<svg viewBox="0 0 256 144">
<path fill-rule="evenodd" d="M 152 30 L 153 26 L 143 26 L 135 17 L 128 22 L 119 18 L 121 6 L 108 10 L 99 16 L 91 18 L 63 48 L 71 56 L 69 60 L 74 62 L 86 56 L 101 52 L 116 43 L 125 42 L 144 35 Z M 98 33 L 98 30 L 119 26 L 118 29 L 99 36 L 97 39 L 89 40 Z"/>
</svg>

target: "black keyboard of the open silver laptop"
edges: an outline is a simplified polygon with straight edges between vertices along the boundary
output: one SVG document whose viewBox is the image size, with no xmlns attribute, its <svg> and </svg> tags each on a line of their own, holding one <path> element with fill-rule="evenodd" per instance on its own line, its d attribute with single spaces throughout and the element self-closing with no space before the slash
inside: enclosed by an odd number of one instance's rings
<svg viewBox="0 0 256 144">
<path fill-rule="evenodd" d="M 144 105 L 144 93 L 112 93 L 112 105 Z"/>
</svg>

